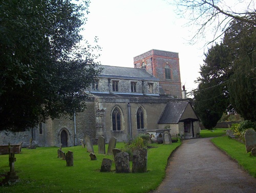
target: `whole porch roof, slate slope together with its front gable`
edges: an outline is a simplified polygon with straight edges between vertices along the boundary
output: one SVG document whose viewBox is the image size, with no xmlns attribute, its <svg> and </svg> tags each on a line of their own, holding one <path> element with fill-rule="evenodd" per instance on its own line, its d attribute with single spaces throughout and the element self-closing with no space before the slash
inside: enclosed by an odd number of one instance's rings
<svg viewBox="0 0 256 193">
<path fill-rule="evenodd" d="M 177 124 L 183 119 L 198 120 L 199 118 L 189 101 L 171 101 L 166 104 L 158 124 Z"/>
</svg>

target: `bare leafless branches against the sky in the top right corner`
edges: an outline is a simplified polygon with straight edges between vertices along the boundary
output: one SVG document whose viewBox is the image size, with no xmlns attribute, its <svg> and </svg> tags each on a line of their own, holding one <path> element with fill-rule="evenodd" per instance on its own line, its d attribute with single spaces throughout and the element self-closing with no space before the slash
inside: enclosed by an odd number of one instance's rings
<svg viewBox="0 0 256 193">
<path fill-rule="evenodd" d="M 170 4 L 177 6 L 178 16 L 188 19 L 191 29 L 196 27 L 191 37 L 193 42 L 205 38 L 209 30 L 213 37 L 208 43 L 215 42 L 228 30 L 233 19 L 256 26 L 254 0 L 174 0 Z"/>
</svg>

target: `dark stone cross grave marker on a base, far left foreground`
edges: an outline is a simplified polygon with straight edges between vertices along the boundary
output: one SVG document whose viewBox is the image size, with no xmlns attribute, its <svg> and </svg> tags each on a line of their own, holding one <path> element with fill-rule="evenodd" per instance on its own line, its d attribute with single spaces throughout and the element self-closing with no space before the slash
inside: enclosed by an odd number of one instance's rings
<svg viewBox="0 0 256 193">
<path fill-rule="evenodd" d="M 12 148 L 9 148 L 9 166 L 10 166 L 10 172 L 7 173 L 5 176 L 5 179 L 3 180 L 3 184 L 9 183 L 9 182 L 16 182 L 18 179 L 18 176 L 16 175 L 16 172 L 14 171 L 14 162 L 16 161 L 15 153 L 12 151 Z"/>
</svg>

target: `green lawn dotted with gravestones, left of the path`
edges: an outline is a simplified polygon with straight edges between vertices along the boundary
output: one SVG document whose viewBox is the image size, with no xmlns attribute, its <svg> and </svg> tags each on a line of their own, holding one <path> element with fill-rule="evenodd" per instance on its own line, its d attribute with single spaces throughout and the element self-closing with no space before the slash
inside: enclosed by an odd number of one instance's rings
<svg viewBox="0 0 256 193">
<path fill-rule="evenodd" d="M 117 148 L 124 143 L 117 143 Z M 146 173 L 116 174 L 115 165 L 110 173 L 101 173 L 103 158 L 114 160 L 113 156 L 98 154 L 97 160 L 90 160 L 86 148 L 81 146 L 62 148 L 64 152 L 74 152 L 74 166 L 66 166 L 66 161 L 57 158 L 56 147 L 22 149 L 15 154 L 15 171 L 20 182 L 11 186 L 0 186 L 0 192 L 148 192 L 155 189 L 165 177 L 167 159 L 181 142 L 170 145 L 151 144 L 147 151 Z M 108 144 L 106 144 L 108 150 Z M 0 155 L 0 181 L 10 170 L 8 155 Z M 132 170 L 132 163 L 130 164 Z"/>
</svg>

